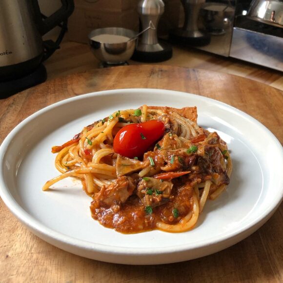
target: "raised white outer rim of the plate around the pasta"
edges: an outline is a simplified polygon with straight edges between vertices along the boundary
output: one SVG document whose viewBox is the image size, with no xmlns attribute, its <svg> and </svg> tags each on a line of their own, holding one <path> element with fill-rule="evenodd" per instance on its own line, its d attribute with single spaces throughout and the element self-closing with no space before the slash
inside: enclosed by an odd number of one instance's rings
<svg viewBox="0 0 283 283">
<path fill-rule="evenodd" d="M 197 97 L 198 100 L 201 101 L 210 101 L 212 103 L 216 103 L 218 106 L 222 106 L 222 108 L 228 108 L 230 111 L 232 111 L 234 114 L 240 115 L 245 119 L 248 119 L 249 121 L 252 121 L 255 123 L 257 126 L 263 128 L 264 131 L 266 131 L 269 135 L 270 138 L 273 139 L 275 143 L 277 143 L 277 146 L 281 146 L 281 143 L 278 141 L 276 136 L 265 126 L 263 125 L 260 121 L 256 120 L 252 116 L 248 115 L 247 113 L 243 112 L 242 110 L 239 110 L 229 104 L 226 104 L 222 101 L 217 101 L 208 97 L 196 95 L 196 94 L 191 94 L 187 92 L 182 92 L 182 91 L 175 91 L 175 90 L 165 90 L 165 89 L 153 89 L 153 88 L 126 88 L 126 89 L 113 89 L 113 90 L 103 90 L 103 91 L 98 91 L 98 92 L 91 92 L 87 94 L 83 94 L 80 96 L 76 97 L 71 97 L 62 101 L 58 101 L 56 103 L 53 103 L 51 105 L 48 105 L 32 115 L 28 116 L 25 118 L 23 121 L 21 121 L 4 139 L 2 144 L 0 145 L 0 165 L 2 165 L 2 160 L 4 158 L 7 146 L 9 145 L 11 139 L 18 133 L 18 131 L 26 124 L 28 124 L 31 120 L 35 119 L 36 117 L 42 115 L 43 113 L 52 110 L 53 108 L 60 107 L 63 104 L 67 104 L 72 101 L 77 101 L 77 100 L 83 100 L 88 97 L 96 97 L 100 95 L 119 95 L 120 92 L 161 92 L 164 94 L 171 94 L 172 93 L 177 93 L 179 95 L 188 95 L 188 96 L 195 96 Z M 136 93 L 135 93 L 136 95 Z M 282 149 L 282 156 L 283 156 L 283 149 Z M 81 249 L 85 250 L 90 250 L 93 252 L 101 252 L 104 254 L 115 254 L 115 255 L 137 255 L 137 256 L 148 256 L 148 255 L 153 255 L 152 248 L 138 248 L 138 247 L 121 247 L 121 246 L 109 246 L 106 244 L 101 244 L 101 243 L 92 243 L 89 241 L 81 240 L 74 238 L 72 236 L 64 235 L 61 232 L 57 232 L 51 228 L 46 227 L 44 224 L 40 223 L 38 220 L 36 220 L 32 215 L 30 215 L 27 211 L 25 211 L 20 204 L 12 197 L 12 195 L 9 193 L 9 188 L 5 186 L 4 179 L 2 176 L 2 166 L 0 170 L 0 197 L 2 198 L 3 202 L 6 204 L 8 209 L 13 213 L 13 215 L 22 223 L 24 224 L 27 228 L 31 229 L 37 236 L 39 236 L 41 239 L 46 240 L 43 236 L 46 236 L 47 238 L 54 239 L 55 241 L 59 241 L 61 243 L 71 245 L 71 246 L 76 246 Z M 282 179 L 282 178 L 281 178 Z M 7 194 L 5 192 L 7 191 Z M 283 192 L 283 188 L 282 188 Z M 155 255 L 162 255 L 162 254 L 168 254 L 168 253 L 175 253 L 175 252 L 182 252 L 184 250 L 189 251 L 189 250 L 196 250 L 200 249 L 204 246 L 209 246 L 209 245 L 215 245 L 221 242 L 229 241 L 232 240 L 233 238 L 245 233 L 247 234 L 245 237 L 249 236 L 254 227 L 258 226 L 259 224 L 262 225 L 264 222 L 266 222 L 271 215 L 275 212 L 275 210 L 278 208 L 280 203 L 282 202 L 282 198 L 278 199 L 276 202 L 272 202 L 272 206 L 269 207 L 268 210 L 262 212 L 260 215 L 257 216 L 257 218 L 253 219 L 253 221 L 249 221 L 246 223 L 241 229 L 237 229 L 236 231 L 233 231 L 225 236 L 222 236 L 218 241 L 209 241 L 209 243 L 195 243 L 194 247 L 188 246 L 188 243 L 186 244 L 181 244 L 181 245 L 170 245 L 166 247 L 157 247 L 154 249 Z M 248 233 L 248 231 L 251 231 L 251 233 Z M 41 236 L 40 236 L 41 235 Z M 244 237 L 244 238 L 245 238 Z M 240 237 L 241 238 L 241 237 Z M 244 239 L 243 238 L 243 239 Z M 240 239 L 239 241 L 243 240 Z M 50 239 L 49 239 L 50 240 Z M 232 244 L 238 243 L 239 241 L 235 241 Z M 48 241 L 47 241 L 48 242 Z M 49 242 L 50 243 L 50 242 Z M 54 244 L 54 243 L 53 243 Z M 230 244 L 230 245 L 232 245 Z M 56 245 L 56 244 L 54 244 Z M 230 246 L 228 245 L 228 246 Z M 57 246 L 57 245 L 56 245 Z M 115 251 L 113 251 L 115 249 Z M 133 263 L 137 264 L 137 263 Z"/>
</svg>

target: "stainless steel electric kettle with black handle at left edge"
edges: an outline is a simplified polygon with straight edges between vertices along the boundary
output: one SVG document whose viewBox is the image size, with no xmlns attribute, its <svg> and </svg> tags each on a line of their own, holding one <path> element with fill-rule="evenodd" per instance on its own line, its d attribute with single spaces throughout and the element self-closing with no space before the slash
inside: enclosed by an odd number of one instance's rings
<svg viewBox="0 0 283 283">
<path fill-rule="evenodd" d="M 73 0 L 61 3 L 58 11 L 45 17 L 38 0 L 0 0 L 0 82 L 33 72 L 59 48 L 74 10 Z M 57 25 L 62 28 L 58 40 L 43 41 L 41 37 Z"/>
</svg>

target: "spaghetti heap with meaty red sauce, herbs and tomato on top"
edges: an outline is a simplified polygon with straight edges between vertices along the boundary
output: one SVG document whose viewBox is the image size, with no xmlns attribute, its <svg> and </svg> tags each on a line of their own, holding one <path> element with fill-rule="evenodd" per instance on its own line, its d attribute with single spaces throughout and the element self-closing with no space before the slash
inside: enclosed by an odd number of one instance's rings
<svg viewBox="0 0 283 283">
<path fill-rule="evenodd" d="M 93 199 L 92 217 L 122 233 L 190 230 L 232 172 L 226 143 L 197 125 L 196 111 L 143 105 L 114 112 L 52 148 L 61 175 L 42 189 L 79 178 Z M 126 135 L 134 144 L 125 144 Z"/>
</svg>

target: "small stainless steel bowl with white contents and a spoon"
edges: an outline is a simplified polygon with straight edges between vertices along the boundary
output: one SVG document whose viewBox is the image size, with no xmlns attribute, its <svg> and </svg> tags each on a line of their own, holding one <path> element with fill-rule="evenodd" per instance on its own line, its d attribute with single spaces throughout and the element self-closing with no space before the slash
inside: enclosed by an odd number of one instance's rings
<svg viewBox="0 0 283 283">
<path fill-rule="evenodd" d="M 102 35 L 105 37 L 101 37 Z M 113 36 L 112 38 L 111 35 Z M 116 43 L 115 39 L 117 37 L 114 36 L 125 37 L 125 41 L 122 42 L 122 40 L 119 40 L 119 42 Z M 130 39 L 135 36 L 136 32 L 130 29 L 121 27 L 105 27 L 91 31 L 88 35 L 88 39 L 91 50 L 97 59 L 99 59 L 102 63 L 111 65 L 125 63 L 132 57 L 135 51 L 137 39 Z"/>
</svg>

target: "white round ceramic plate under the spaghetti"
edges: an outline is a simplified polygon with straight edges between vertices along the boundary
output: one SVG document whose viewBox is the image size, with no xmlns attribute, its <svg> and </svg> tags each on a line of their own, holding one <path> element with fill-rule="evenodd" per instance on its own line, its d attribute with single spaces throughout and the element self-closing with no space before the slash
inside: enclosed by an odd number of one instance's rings
<svg viewBox="0 0 283 283">
<path fill-rule="evenodd" d="M 233 160 L 230 185 L 208 201 L 197 226 L 171 234 L 124 235 L 91 218 L 91 198 L 67 179 L 55 190 L 42 185 L 58 175 L 53 145 L 119 109 L 148 105 L 198 107 L 198 123 L 217 131 Z M 157 264 L 220 251 L 257 230 L 283 195 L 283 149 L 273 134 L 247 114 L 219 101 L 158 89 L 110 90 L 58 102 L 21 122 L 0 147 L 0 195 L 34 234 L 63 250 L 111 263 Z"/>
</svg>

